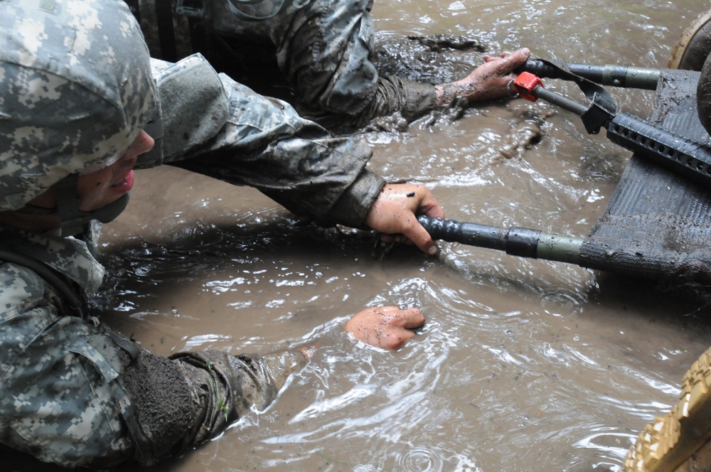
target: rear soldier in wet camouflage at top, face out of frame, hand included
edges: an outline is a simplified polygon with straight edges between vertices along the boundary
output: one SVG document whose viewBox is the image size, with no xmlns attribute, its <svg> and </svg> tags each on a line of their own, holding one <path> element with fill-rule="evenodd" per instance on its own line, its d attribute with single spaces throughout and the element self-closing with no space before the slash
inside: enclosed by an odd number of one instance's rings
<svg viewBox="0 0 711 472">
<path fill-rule="evenodd" d="M 326 127 L 361 127 L 393 112 L 412 120 L 457 97 L 507 97 L 511 71 L 530 54 L 518 50 L 463 80 L 429 85 L 378 74 L 371 62 L 373 0 L 126 1 L 154 58 L 174 61 L 200 52 L 218 70 L 244 80 L 240 75 L 261 71 L 245 71 L 242 62 L 260 55 L 264 45 L 274 48 L 278 68 L 296 92 L 296 109 Z"/>
</svg>

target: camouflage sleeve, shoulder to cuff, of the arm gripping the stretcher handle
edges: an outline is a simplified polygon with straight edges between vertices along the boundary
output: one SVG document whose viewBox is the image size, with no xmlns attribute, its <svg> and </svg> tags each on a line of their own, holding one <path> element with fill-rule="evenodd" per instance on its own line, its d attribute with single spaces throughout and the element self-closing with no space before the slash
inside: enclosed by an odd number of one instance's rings
<svg viewBox="0 0 711 472">
<path fill-rule="evenodd" d="M 289 104 L 258 95 L 225 74 L 215 75 L 221 87 L 209 99 L 201 96 L 168 102 L 170 97 L 195 93 L 195 80 L 208 82 L 207 64 L 196 55 L 176 64 L 160 60 L 152 63 L 161 90 L 164 137 L 154 151 L 141 156 L 141 166 L 170 163 L 258 188 L 292 212 L 324 224 L 363 224 L 385 185 L 382 177 L 365 168 L 373 152 L 363 139 L 333 136 L 299 117 Z M 196 64 L 198 67 L 192 69 Z M 173 83 L 164 85 L 181 73 L 195 78 L 178 80 L 181 83 L 175 89 Z M 204 86 L 203 90 L 213 87 Z M 224 97 L 215 97 L 223 91 Z M 196 112 L 196 104 L 207 105 Z M 214 117 L 221 109 L 225 112 L 218 120 L 221 127 L 217 134 L 207 139 L 210 132 L 205 130 L 202 137 L 196 136 L 200 133 L 195 124 L 208 121 L 199 116 Z"/>
</svg>

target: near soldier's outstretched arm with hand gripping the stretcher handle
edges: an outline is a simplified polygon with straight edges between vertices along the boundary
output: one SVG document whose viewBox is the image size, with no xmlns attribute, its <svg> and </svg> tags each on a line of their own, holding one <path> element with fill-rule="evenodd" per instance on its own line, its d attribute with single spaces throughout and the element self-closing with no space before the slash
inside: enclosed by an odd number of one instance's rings
<svg viewBox="0 0 711 472">
<path fill-rule="evenodd" d="M 156 71 L 161 92 L 164 86 L 174 88 L 174 82 L 181 82 L 186 64 L 188 60 Z M 220 115 L 214 134 L 198 138 L 188 133 L 193 137 L 184 141 L 186 133 L 180 132 L 184 114 L 196 113 L 199 122 L 209 121 L 211 115 L 195 112 L 196 99 L 176 104 L 166 100 L 164 117 L 178 118 L 164 119 L 163 155 L 158 162 L 258 188 L 294 213 L 318 222 L 368 227 L 385 233 L 385 240 L 402 238 L 424 252 L 437 252 L 416 218 L 419 214 L 444 218 L 427 188 L 385 186 L 382 177 L 365 168 L 372 151 L 362 139 L 333 136 L 284 102 L 262 97 L 225 75 L 214 78 L 217 92 L 226 92 L 216 100 L 224 116 Z M 213 95 L 220 99 L 220 93 Z M 183 113 L 174 109 L 181 103 L 186 107 Z"/>
</svg>

